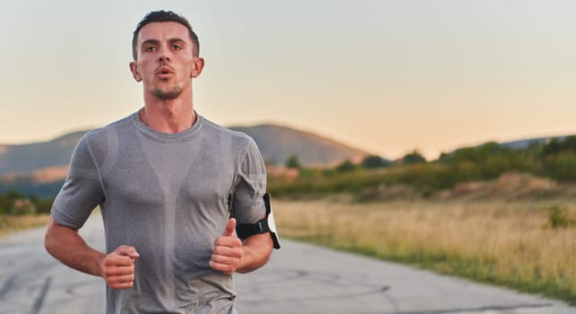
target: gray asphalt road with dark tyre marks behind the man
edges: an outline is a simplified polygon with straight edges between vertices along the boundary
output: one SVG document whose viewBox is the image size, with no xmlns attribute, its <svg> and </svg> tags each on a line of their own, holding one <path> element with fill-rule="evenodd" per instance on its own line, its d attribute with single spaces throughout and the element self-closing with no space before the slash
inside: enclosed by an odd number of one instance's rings
<svg viewBox="0 0 576 314">
<path fill-rule="evenodd" d="M 81 231 L 103 247 L 99 216 Z M 104 313 L 104 282 L 49 257 L 44 229 L 0 240 L 0 313 Z M 576 314 L 559 301 L 281 240 L 264 268 L 235 275 L 240 314 Z"/>
</svg>

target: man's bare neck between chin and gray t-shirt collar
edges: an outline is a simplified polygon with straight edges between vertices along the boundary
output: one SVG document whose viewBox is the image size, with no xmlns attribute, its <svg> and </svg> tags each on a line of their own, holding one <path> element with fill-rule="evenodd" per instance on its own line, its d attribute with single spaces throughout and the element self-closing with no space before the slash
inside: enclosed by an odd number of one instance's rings
<svg viewBox="0 0 576 314">
<path fill-rule="evenodd" d="M 168 134 L 185 131 L 196 121 L 191 100 L 145 101 L 139 114 L 146 126 Z"/>
</svg>

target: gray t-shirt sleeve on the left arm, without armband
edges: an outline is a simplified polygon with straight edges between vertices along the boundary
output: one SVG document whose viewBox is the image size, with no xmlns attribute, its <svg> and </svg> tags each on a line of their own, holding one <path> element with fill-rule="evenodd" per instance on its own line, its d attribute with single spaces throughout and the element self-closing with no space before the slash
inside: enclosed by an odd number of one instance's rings
<svg viewBox="0 0 576 314">
<path fill-rule="evenodd" d="M 57 223 L 78 230 L 103 200 L 98 167 L 90 153 L 88 136 L 84 135 L 74 148 L 68 175 L 50 214 Z"/>
</svg>

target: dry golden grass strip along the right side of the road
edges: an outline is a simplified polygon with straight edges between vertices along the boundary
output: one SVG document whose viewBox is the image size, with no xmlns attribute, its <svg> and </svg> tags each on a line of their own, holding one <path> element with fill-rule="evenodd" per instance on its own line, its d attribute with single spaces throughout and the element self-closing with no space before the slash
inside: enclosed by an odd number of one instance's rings
<svg viewBox="0 0 576 314">
<path fill-rule="evenodd" d="M 275 201 L 282 237 L 576 304 L 576 228 L 551 226 L 570 201 Z M 568 220 L 572 218 L 567 218 Z"/>
</svg>

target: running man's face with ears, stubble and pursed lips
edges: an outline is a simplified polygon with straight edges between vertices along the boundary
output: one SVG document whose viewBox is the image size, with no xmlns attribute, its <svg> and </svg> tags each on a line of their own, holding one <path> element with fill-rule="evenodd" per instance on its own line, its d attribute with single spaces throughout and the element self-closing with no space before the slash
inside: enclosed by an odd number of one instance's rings
<svg viewBox="0 0 576 314">
<path fill-rule="evenodd" d="M 188 30 L 178 22 L 151 22 L 138 33 L 133 77 L 144 92 L 161 100 L 174 100 L 191 89 L 192 78 L 202 72 L 203 60 L 193 57 Z"/>
</svg>

